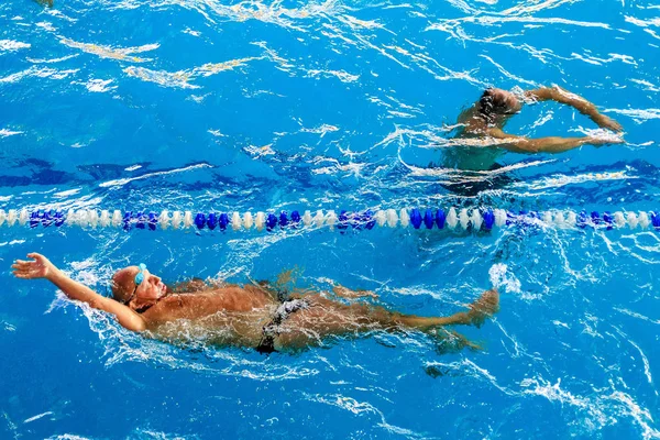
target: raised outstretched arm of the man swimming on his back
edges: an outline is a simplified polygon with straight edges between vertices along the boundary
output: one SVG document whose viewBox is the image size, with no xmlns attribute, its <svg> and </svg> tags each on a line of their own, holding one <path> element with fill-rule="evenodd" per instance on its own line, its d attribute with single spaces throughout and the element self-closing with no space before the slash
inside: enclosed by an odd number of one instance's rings
<svg viewBox="0 0 660 440">
<path fill-rule="evenodd" d="M 146 322 L 140 315 L 114 299 L 106 298 L 86 285 L 73 280 L 55 267 L 45 256 L 33 252 L 28 254 L 28 257 L 34 258 L 34 261 L 16 260 L 12 264 L 11 268 L 16 278 L 45 278 L 57 286 L 70 299 L 87 302 L 95 309 L 114 315 L 119 323 L 128 330 L 143 331 L 146 328 Z"/>
</svg>

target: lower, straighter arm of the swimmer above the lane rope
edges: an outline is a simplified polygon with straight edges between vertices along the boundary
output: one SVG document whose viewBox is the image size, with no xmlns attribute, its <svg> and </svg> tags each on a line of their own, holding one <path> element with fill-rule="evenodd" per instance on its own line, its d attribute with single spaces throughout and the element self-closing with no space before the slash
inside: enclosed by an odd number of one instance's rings
<svg viewBox="0 0 660 440">
<path fill-rule="evenodd" d="M 514 134 L 507 134 L 501 129 L 490 129 L 487 134 L 492 138 L 505 141 L 497 146 L 514 153 L 562 153 L 569 150 L 576 148 L 582 145 L 606 145 L 606 144 L 620 144 L 624 143 L 623 139 L 601 139 L 594 136 L 583 138 L 537 138 L 529 139 L 525 136 L 516 136 Z"/>
</svg>

